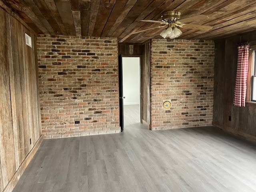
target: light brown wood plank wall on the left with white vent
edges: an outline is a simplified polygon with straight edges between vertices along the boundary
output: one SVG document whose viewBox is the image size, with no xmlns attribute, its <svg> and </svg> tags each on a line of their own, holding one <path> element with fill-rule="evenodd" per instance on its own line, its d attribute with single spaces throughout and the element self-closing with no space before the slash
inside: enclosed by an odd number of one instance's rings
<svg viewBox="0 0 256 192">
<path fill-rule="evenodd" d="M 0 8 L 0 192 L 41 133 L 36 37 Z M 26 45 L 25 33 L 32 38 Z"/>
</svg>

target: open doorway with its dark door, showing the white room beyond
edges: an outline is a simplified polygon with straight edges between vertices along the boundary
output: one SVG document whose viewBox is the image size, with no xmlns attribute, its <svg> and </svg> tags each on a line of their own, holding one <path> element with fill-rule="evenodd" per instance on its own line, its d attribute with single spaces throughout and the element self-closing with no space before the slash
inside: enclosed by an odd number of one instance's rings
<svg viewBox="0 0 256 192">
<path fill-rule="evenodd" d="M 140 123 L 140 60 L 119 56 L 120 127 Z"/>
</svg>

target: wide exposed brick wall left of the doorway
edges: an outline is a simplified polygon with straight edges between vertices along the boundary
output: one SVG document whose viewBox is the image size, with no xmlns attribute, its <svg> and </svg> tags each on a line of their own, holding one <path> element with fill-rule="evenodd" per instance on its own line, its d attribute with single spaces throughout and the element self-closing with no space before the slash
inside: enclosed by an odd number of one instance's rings
<svg viewBox="0 0 256 192">
<path fill-rule="evenodd" d="M 119 132 L 116 38 L 37 39 L 44 138 Z"/>
</svg>

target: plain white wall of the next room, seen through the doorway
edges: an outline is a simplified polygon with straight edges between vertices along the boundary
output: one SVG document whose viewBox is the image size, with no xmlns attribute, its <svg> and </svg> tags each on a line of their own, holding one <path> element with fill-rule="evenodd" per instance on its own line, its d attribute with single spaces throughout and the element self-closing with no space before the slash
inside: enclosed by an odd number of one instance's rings
<svg viewBox="0 0 256 192">
<path fill-rule="evenodd" d="M 140 104 L 140 58 L 123 57 L 124 105 Z"/>
</svg>

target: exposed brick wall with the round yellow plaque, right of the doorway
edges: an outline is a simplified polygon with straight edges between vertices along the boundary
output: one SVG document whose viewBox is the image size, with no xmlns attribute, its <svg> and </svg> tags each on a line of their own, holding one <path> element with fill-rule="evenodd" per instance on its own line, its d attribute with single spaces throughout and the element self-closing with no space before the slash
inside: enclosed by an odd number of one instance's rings
<svg viewBox="0 0 256 192">
<path fill-rule="evenodd" d="M 212 124 L 214 42 L 153 39 L 151 42 L 152 130 Z M 171 102 L 164 110 L 163 102 Z"/>
</svg>

